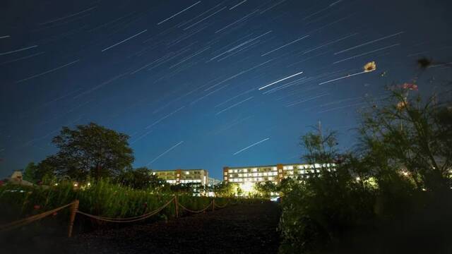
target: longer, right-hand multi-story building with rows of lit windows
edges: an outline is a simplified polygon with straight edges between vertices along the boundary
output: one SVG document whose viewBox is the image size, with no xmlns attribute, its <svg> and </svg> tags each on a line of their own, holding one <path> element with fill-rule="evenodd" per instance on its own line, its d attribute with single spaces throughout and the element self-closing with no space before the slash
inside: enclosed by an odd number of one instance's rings
<svg viewBox="0 0 452 254">
<path fill-rule="evenodd" d="M 321 168 L 335 170 L 335 164 L 276 164 L 268 166 L 224 167 L 225 183 L 260 183 L 271 181 L 279 183 L 285 178 L 309 178 L 320 173 Z"/>
</svg>

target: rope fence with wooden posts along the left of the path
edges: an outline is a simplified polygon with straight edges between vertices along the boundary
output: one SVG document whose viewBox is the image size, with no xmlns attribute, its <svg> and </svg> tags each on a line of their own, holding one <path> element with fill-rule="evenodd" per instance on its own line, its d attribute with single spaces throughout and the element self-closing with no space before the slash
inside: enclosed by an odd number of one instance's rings
<svg viewBox="0 0 452 254">
<path fill-rule="evenodd" d="M 172 197 L 170 200 L 168 200 L 164 205 L 162 205 L 161 207 L 158 207 L 156 210 L 153 210 L 152 212 L 148 212 L 145 214 L 141 214 L 135 217 L 126 217 L 126 218 L 114 218 L 114 217 L 103 217 L 103 216 L 98 216 L 98 215 L 94 215 L 94 214 L 88 214 L 86 212 L 82 212 L 80 210 L 78 210 L 78 205 L 79 205 L 79 201 L 75 200 L 73 202 L 70 202 L 67 205 L 63 205 L 61 207 L 57 207 L 53 210 L 49 210 L 47 212 L 42 212 L 41 214 L 36 214 L 24 219 L 19 219 L 15 222 L 10 222 L 8 224 L 3 224 L 0 225 L 0 232 L 3 231 L 9 231 L 12 229 L 16 229 L 20 226 L 25 226 L 27 224 L 30 224 L 32 222 L 35 222 L 37 220 L 43 219 L 44 217 L 49 216 L 50 214 L 54 214 L 54 212 L 58 212 L 59 210 L 63 210 L 66 207 L 71 207 L 71 212 L 70 212 L 70 217 L 69 217 L 69 229 L 68 229 L 68 237 L 72 236 L 72 229 L 73 229 L 73 222 L 76 219 L 76 214 L 82 214 L 85 215 L 86 217 L 90 217 L 92 219 L 97 219 L 103 222 L 116 222 L 116 223 L 129 223 L 129 222 L 138 222 L 141 221 L 143 219 L 148 219 L 149 217 L 152 217 L 155 214 L 158 214 L 160 211 L 164 210 L 165 207 L 167 207 L 168 205 L 170 205 L 172 202 L 174 202 L 174 209 L 175 209 L 175 214 L 176 217 L 179 217 L 179 207 L 182 208 L 182 210 L 186 210 L 187 212 L 191 212 L 191 213 L 201 213 L 201 212 L 205 212 L 206 210 L 208 210 L 210 207 L 212 208 L 212 211 L 215 210 L 215 207 L 218 208 L 225 208 L 227 207 L 227 205 L 236 205 L 238 203 L 232 203 L 230 202 L 230 200 L 228 200 L 225 205 L 217 205 L 215 203 L 215 199 L 213 199 L 212 201 L 210 201 L 210 203 L 204 207 L 201 210 L 191 210 L 187 207 L 185 207 L 184 205 L 181 205 L 179 203 L 179 200 L 177 198 L 177 195 L 174 195 L 174 197 Z"/>
</svg>

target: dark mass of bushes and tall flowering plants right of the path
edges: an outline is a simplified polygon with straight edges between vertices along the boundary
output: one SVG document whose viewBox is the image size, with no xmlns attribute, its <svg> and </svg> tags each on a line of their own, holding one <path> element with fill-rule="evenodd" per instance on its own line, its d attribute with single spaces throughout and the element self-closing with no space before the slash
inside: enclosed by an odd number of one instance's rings
<svg viewBox="0 0 452 254">
<path fill-rule="evenodd" d="M 433 244 L 447 242 L 452 224 L 434 219 L 452 212 L 451 109 L 393 91 L 364 114 L 359 133 L 357 150 L 343 155 L 335 133 L 302 137 L 303 158 L 322 167 L 309 179 L 280 183 L 280 253 L 451 250 Z"/>
</svg>

